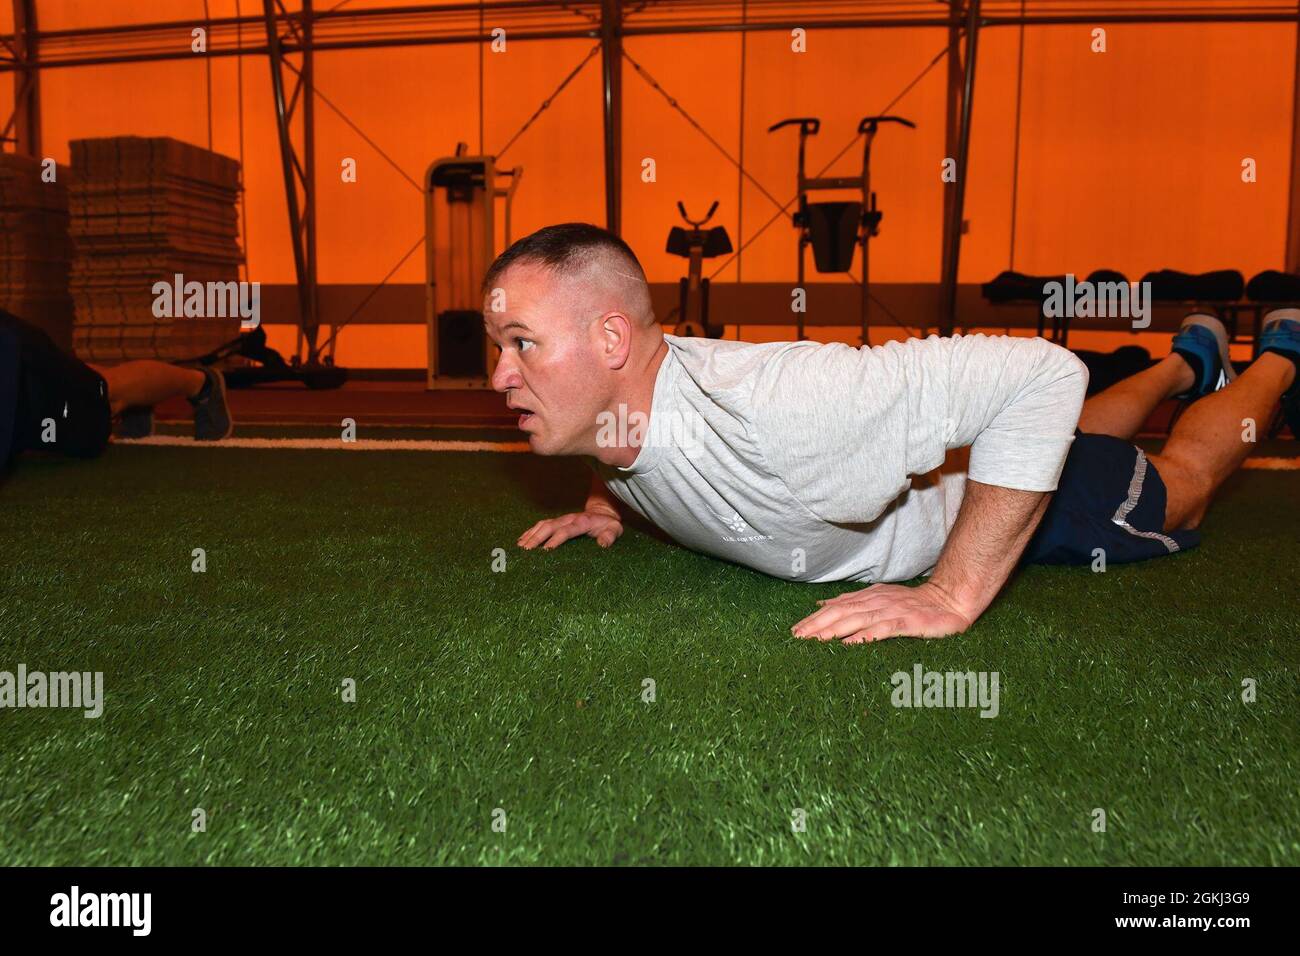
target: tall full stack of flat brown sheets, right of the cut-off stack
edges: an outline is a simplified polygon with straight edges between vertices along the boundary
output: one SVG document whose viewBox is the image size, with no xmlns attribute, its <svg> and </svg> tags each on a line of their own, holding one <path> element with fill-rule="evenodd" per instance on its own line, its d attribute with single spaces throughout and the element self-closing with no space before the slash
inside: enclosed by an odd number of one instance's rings
<svg viewBox="0 0 1300 956">
<path fill-rule="evenodd" d="M 174 290 L 239 281 L 239 163 L 165 137 L 74 139 L 72 153 L 77 354 L 181 360 L 238 336 L 238 312 L 211 297 L 186 310 Z"/>
</svg>

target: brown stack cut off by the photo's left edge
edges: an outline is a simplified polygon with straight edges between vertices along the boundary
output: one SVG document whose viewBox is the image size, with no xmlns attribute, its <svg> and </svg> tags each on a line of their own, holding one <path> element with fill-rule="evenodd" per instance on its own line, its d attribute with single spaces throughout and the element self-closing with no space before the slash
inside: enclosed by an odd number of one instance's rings
<svg viewBox="0 0 1300 956">
<path fill-rule="evenodd" d="M 0 308 L 72 347 L 68 166 L 0 153 Z"/>
</svg>

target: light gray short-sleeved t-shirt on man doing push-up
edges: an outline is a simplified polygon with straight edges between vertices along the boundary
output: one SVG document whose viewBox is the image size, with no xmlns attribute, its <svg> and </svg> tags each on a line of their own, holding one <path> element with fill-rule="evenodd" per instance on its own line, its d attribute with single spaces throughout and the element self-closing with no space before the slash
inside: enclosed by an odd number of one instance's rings
<svg viewBox="0 0 1300 956">
<path fill-rule="evenodd" d="M 1056 490 L 1088 384 L 1043 338 L 664 338 L 636 462 L 592 467 L 681 545 L 800 581 L 930 574 L 967 476 Z"/>
</svg>

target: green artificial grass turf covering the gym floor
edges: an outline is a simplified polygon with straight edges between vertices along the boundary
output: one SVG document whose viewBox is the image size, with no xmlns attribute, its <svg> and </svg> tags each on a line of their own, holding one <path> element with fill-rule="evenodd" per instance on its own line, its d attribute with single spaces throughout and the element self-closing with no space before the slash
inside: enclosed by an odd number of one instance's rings
<svg viewBox="0 0 1300 956">
<path fill-rule="evenodd" d="M 1192 553 L 1028 568 L 966 635 L 861 648 L 789 635 L 841 585 L 630 528 L 515 548 L 586 481 L 516 454 L 23 462 L 0 670 L 101 670 L 107 700 L 0 710 L 0 862 L 1300 860 L 1300 473 L 1235 476 Z M 918 662 L 997 671 L 998 717 L 890 706 Z"/>
</svg>

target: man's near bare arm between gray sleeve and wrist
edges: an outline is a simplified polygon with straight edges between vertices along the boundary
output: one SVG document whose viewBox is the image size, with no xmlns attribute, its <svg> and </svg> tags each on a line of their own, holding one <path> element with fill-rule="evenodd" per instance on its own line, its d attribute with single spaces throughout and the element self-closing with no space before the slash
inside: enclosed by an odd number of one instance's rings
<svg viewBox="0 0 1300 956">
<path fill-rule="evenodd" d="M 967 480 L 957 523 L 930 584 L 974 622 L 1011 576 L 1050 499 L 1050 492 L 1017 492 Z"/>
</svg>

